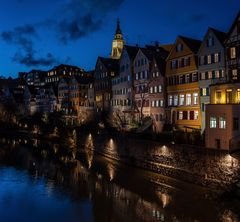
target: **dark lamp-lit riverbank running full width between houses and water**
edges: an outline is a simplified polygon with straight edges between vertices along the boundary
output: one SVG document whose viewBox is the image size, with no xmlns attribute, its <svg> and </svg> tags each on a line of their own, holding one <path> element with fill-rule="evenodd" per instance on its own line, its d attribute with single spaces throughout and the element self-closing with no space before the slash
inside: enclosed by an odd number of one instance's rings
<svg viewBox="0 0 240 222">
<path fill-rule="evenodd" d="M 231 189 L 232 184 L 238 184 L 240 178 L 239 159 L 226 151 L 163 144 L 122 133 L 87 133 L 76 129 L 69 129 L 61 138 L 28 131 L 5 132 L 3 135 L 17 137 L 22 141 L 49 141 L 54 144 L 54 148 L 46 149 L 43 146 L 39 148 L 40 155 L 48 155 L 68 166 L 75 164 L 78 152 L 92 150 L 117 162 L 208 187 L 217 192 Z"/>
</svg>

